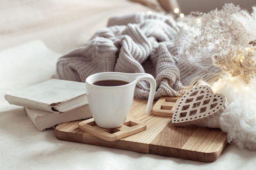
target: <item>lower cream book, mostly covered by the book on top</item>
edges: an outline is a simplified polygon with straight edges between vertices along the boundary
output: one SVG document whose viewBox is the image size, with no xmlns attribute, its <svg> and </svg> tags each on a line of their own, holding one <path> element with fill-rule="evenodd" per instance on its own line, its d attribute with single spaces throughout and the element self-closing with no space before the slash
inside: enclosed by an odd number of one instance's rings
<svg viewBox="0 0 256 170">
<path fill-rule="evenodd" d="M 25 110 L 27 113 L 27 117 L 29 117 L 29 119 L 33 122 L 36 128 L 38 128 L 38 130 L 40 131 L 46 128 L 54 128 L 55 125 L 63 122 L 87 119 L 92 117 L 88 104 L 60 114 L 54 114 L 51 112 L 26 107 Z"/>
</svg>

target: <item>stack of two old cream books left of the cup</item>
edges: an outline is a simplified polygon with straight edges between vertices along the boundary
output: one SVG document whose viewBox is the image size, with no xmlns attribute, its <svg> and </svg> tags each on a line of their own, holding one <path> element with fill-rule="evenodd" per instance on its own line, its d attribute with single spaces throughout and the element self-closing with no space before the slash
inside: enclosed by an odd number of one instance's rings
<svg viewBox="0 0 256 170">
<path fill-rule="evenodd" d="M 57 124 L 92 117 L 85 93 L 85 83 L 50 79 L 7 93 L 10 104 L 25 107 L 27 117 L 38 130 Z"/>
</svg>

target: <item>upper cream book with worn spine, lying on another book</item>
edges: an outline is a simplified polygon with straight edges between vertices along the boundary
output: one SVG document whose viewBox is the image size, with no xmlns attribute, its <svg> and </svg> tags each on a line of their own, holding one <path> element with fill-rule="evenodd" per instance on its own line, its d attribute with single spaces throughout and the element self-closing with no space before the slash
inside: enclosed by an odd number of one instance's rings
<svg viewBox="0 0 256 170">
<path fill-rule="evenodd" d="M 10 104 L 52 113 L 64 113 L 88 104 L 85 83 L 61 79 L 49 79 L 4 97 Z"/>
</svg>

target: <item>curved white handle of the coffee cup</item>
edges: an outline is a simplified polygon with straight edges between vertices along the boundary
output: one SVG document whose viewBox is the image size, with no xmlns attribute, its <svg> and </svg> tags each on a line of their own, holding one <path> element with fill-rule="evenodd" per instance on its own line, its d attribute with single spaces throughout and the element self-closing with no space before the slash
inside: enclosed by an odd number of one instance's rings
<svg viewBox="0 0 256 170">
<path fill-rule="evenodd" d="M 148 104 L 147 104 L 147 108 L 146 108 L 146 114 L 148 114 L 148 113 L 150 113 L 150 110 L 152 108 L 152 104 L 153 104 L 153 100 L 154 100 L 154 96 L 155 96 L 155 89 L 156 89 L 155 79 L 152 75 L 150 75 L 148 73 L 135 73 L 135 77 L 136 77 L 135 86 L 136 86 L 137 82 L 139 82 L 141 80 L 146 80 L 150 84 Z"/>
</svg>

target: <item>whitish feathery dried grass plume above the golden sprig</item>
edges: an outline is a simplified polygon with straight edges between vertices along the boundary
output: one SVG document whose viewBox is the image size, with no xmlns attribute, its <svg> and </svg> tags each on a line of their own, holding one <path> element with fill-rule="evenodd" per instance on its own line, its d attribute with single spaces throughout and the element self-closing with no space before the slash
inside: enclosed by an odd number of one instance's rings
<svg viewBox="0 0 256 170">
<path fill-rule="evenodd" d="M 183 27 L 176 43 L 178 52 L 186 57 L 211 58 L 225 49 L 244 46 L 256 39 L 255 7 L 250 14 L 229 3 L 209 13 L 192 12 L 181 21 Z"/>
</svg>

